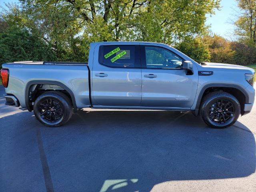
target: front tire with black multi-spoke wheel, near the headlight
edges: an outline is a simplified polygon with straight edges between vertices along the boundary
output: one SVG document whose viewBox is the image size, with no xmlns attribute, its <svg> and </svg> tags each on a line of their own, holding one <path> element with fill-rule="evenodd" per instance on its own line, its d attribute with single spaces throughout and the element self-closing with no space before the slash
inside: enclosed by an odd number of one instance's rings
<svg viewBox="0 0 256 192">
<path fill-rule="evenodd" d="M 240 115 L 240 103 L 226 92 L 212 92 L 204 96 L 200 106 L 203 121 L 213 128 L 226 128 L 236 122 Z"/>
</svg>

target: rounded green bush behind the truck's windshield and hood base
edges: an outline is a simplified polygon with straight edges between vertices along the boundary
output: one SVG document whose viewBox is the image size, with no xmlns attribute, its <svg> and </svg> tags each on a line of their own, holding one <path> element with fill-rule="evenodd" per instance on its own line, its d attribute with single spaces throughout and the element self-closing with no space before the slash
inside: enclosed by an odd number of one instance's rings
<svg viewBox="0 0 256 192">
<path fill-rule="evenodd" d="M 188 55 L 195 61 L 210 61 L 210 50 L 201 37 L 185 38 L 182 42 L 175 46 L 178 50 Z"/>
</svg>

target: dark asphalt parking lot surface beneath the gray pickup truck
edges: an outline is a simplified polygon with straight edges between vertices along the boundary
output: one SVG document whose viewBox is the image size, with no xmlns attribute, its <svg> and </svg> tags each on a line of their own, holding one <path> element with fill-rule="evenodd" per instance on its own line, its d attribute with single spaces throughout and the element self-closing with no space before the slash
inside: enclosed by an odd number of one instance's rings
<svg viewBox="0 0 256 192">
<path fill-rule="evenodd" d="M 90 109 L 48 128 L 3 94 L 0 191 L 256 191 L 256 105 L 226 129 L 190 112 Z"/>
</svg>

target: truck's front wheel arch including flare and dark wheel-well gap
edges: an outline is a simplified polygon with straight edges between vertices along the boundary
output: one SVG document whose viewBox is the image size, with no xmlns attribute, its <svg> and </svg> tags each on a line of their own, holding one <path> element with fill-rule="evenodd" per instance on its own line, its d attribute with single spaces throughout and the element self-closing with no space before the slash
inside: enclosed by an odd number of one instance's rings
<svg viewBox="0 0 256 192">
<path fill-rule="evenodd" d="M 228 92 L 228 93 L 234 95 L 240 102 L 241 114 L 243 115 L 244 104 L 249 102 L 249 96 L 246 93 L 246 91 L 244 90 L 244 88 L 242 88 L 238 85 L 233 85 L 233 84 L 207 84 L 201 89 L 201 91 L 198 95 L 198 99 L 196 102 L 196 108 L 195 108 L 196 116 L 198 115 L 202 98 L 204 97 L 204 95 L 207 94 L 207 90 L 209 90 L 209 89 L 224 91 L 224 92 Z M 230 91 L 227 91 L 227 90 L 230 90 Z M 232 92 L 231 90 L 237 90 L 237 92 Z"/>
</svg>

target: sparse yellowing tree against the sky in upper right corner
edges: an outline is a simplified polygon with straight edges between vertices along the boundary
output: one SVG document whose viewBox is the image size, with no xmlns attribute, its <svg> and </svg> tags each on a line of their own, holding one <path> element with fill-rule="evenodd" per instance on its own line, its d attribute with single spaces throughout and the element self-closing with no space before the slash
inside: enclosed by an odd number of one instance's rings
<svg viewBox="0 0 256 192">
<path fill-rule="evenodd" d="M 241 42 L 256 47 L 256 0 L 237 0 L 240 16 L 236 22 L 235 34 Z"/>
</svg>

